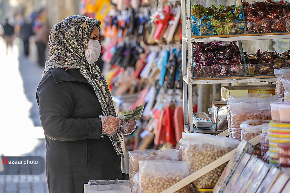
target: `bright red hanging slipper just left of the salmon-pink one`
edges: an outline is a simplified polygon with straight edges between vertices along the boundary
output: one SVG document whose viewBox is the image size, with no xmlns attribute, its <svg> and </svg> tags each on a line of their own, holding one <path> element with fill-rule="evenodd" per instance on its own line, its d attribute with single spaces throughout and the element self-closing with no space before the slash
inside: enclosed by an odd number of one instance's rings
<svg viewBox="0 0 290 193">
<path fill-rule="evenodd" d="M 174 109 L 168 106 L 165 110 L 165 131 L 166 131 L 166 141 L 171 145 L 176 144 L 175 140 L 175 130 L 174 130 Z"/>
</svg>

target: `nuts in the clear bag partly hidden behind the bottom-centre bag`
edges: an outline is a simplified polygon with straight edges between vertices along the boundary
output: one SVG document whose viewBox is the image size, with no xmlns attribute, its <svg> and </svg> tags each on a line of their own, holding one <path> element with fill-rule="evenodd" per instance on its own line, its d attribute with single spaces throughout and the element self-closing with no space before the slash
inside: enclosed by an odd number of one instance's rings
<svg viewBox="0 0 290 193">
<path fill-rule="evenodd" d="M 149 154 L 137 154 L 132 155 L 129 159 L 129 178 L 130 184 L 133 185 L 133 177 L 134 175 L 139 172 L 139 160 L 153 160 L 153 159 L 166 159 L 172 160 L 171 157 L 167 157 L 165 155 L 157 155 L 153 152 L 151 155 Z"/>
</svg>

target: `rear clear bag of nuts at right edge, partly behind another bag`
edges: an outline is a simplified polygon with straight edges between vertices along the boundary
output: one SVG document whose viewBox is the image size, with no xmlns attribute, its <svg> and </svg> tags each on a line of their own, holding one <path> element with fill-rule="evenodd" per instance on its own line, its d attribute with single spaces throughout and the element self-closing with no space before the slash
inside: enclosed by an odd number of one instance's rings
<svg viewBox="0 0 290 193">
<path fill-rule="evenodd" d="M 282 99 L 284 101 L 284 86 L 281 82 L 281 78 L 290 78 L 290 68 L 283 67 L 279 69 L 274 69 L 274 74 L 277 77 L 276 80 L 276 93 L 277 98 Z"/>
</svg>

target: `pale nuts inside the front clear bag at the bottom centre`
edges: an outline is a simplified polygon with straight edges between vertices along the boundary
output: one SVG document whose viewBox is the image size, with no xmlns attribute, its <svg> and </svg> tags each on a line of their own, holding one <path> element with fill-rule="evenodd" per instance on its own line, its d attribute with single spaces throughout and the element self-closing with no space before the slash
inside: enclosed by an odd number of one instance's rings
<svg viewBox="0 0 290 193">
<path fill-rule="evenodd" d="M 184 179 L 186 176 L 185 173 L 177 171 L 148 171 L 139 175 L 140 190 L 142 193 L 159 193 Z M 176 192 L 190 193 L 190 184 Z"/>
</svg>

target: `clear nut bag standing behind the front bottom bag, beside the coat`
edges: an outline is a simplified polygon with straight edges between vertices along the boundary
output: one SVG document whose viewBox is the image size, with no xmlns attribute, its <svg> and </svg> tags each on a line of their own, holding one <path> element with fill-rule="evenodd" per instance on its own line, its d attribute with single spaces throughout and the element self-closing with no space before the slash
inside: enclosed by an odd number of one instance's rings
<svg viewBox="0 0 290 193">
<path fill-rule="evenodd" d="M 164 149 L 164 150 L 134 150 L 129 151 L 129 180 L 131 187 L 133 185 L 133 177 L 139 172 L 139 160 L 152 160 L 152 159 L 166 159 L 177 161 L 177 149 Z"/>
</svg>

